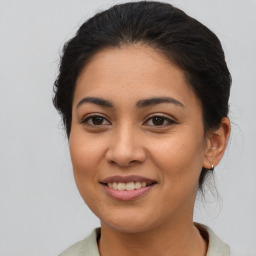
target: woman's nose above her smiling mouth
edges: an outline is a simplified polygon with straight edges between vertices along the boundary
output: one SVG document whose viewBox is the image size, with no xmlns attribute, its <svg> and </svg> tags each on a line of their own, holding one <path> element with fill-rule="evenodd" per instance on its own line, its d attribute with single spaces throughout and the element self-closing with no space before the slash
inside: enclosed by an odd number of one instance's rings
<svg viewBox="0 0 256 256">
<path fill-rule="evenodd" d="M 143 163 L 146 152 L 141 136 L 131 127 L 120 127 L 113 131 L 110 147 L 106 152 L 106 159 L 110 164 L 129 167 Z"/>
</svg>

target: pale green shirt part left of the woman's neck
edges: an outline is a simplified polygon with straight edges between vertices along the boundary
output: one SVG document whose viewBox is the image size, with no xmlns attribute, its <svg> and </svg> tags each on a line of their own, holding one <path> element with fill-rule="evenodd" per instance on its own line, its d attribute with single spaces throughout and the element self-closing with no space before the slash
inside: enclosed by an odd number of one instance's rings
<svg viewBox="0 0 256 256">
<path fill-rule="evenodd" d="M 94 229 L 85 239 L 73 244 L 59 256 L 99 256 L 97 237 L 100 229 Z"/>
</svg>

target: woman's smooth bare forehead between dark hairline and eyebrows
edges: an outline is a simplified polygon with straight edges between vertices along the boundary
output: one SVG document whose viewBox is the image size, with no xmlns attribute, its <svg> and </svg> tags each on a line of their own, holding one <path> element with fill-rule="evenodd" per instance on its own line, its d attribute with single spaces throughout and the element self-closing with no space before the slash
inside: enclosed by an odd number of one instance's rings
<svg viewBox="0 0 256 256">
<path fill-rule="evenodd" d="M 93 56 L 78 77 L 74 103 L 85 96 L 139 100 L 171 96 L 197 100 L 184 72 L 164 55 L 144 45 L 108 48 Z"/>
</svg>

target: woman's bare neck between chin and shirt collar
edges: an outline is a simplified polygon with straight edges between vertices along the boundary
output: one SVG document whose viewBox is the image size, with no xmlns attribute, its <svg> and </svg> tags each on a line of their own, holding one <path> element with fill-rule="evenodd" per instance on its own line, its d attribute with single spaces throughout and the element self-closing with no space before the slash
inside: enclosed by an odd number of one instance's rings
<svg viewBox="0 0 256 256">
<path fill-rule="evenodd" d="M 193 222 L 174 223 L 140 233 L 124 233 L 102 223 L 101 256 L 205 256 L 207 243 Z"/>
</svg>

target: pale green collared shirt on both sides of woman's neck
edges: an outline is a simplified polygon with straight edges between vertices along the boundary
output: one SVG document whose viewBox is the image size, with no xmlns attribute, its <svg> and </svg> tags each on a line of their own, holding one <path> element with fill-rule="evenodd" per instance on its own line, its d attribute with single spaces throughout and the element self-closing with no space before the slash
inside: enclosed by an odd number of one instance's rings
<svg viewBox="0 0 256 256">
<path fill-rule="evenodd" d="M 200 227 L 208 233 L 208 250 L 206 256 L 230 256 L 230 249 L 227 244 L 207 226 L 196 224 L 197 228 Z M 100 228 L 94 229 L 93 232 L 84 240 L 72 245 L 59 256 L 100 256 L 97 237 L 100 235 Z"/>
</svg>

